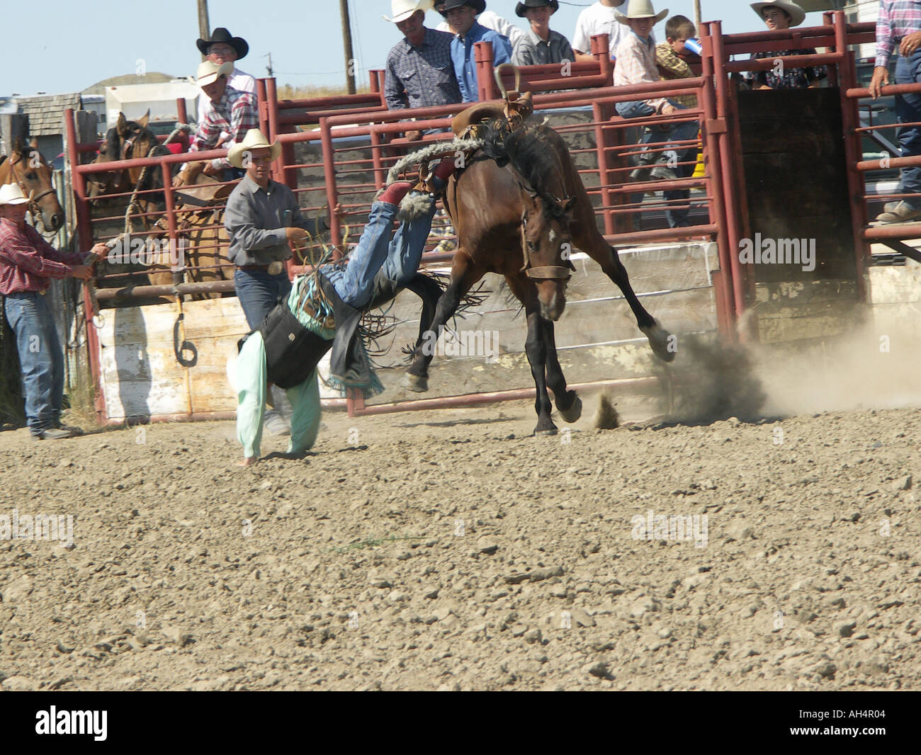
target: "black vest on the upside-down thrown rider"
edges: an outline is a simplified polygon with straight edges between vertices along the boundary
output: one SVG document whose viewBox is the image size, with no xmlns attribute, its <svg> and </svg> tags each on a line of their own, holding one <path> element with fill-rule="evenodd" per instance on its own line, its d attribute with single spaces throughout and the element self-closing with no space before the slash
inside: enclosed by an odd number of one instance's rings
<svg viewBox="0 0 921 755">
<path fill-rule="evenodd" d="M 303 383 L 332 347 L 315 332 L 305 328 L 279 303 L 256 329 L 265 344 L 265 362 L 269 382 L 279 388 L 294 388 Z"/>
</svg>

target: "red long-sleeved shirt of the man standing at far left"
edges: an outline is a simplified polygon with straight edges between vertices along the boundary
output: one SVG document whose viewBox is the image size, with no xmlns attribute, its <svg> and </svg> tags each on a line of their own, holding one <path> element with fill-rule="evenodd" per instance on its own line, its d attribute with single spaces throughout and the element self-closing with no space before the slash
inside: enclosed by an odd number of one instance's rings
<svg viewBox="0 0 921 755">
<path fill-rule="evenodd" d="M 54 249 L 28 224 L 19 230 L 0 220 L 0 295 L 44 291 L 49 278 L 68 278 L 79 264 L 82 254 Z"/>
</svg>

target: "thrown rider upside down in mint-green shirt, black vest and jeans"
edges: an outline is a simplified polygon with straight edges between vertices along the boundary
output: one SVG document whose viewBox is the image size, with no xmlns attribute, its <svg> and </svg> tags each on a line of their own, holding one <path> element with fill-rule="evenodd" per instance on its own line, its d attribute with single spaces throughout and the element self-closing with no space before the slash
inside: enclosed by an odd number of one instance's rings
<svg viewBox="0 0 921 755">
<path fill-rule="evenodd" d="M 262 152 L 274 157 L 279 149 L 277 142 L 252 150 L 235 145 L 227 158 L 238 168 L 245 163 L 250 171 L 263 165 Z M 262 325 L 240 342 L 236 363 L 227 365 L 227 377 L 237 392 L 237 439 L 243 445 L 239 466 L 248 467 L 259 458 L 269 384 L 286 389 L 291 403 L 287 453 L 303 453 L 313 446 L 320 428 L 316 367 L 331 348 L 333 386 L 360 389 L 366 398 L 382 389 L 358 325 L 368 309 L 379 307 L 403 287 L 416 291 L 414 281 L 425 277 L 416 271 L 435 215 L 435 194 L 454 170 L 454 158 L 447 157 L 415 187 L 399 181 L 379 192 L 356 249 L 344 260 L 297 276 Z M 403 220 L 391 239 L 400 203 L 411 188 L 404 204 L 414 204 L 414 219 Z"/>
</svg>

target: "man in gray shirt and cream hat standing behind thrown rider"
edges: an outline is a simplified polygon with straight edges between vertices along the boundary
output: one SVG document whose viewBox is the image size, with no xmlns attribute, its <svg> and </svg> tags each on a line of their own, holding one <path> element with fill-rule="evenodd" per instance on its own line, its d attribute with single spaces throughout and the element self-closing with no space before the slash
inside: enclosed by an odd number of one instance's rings
<svg viewBox="0 0 921 755">
<path fill-rule="evenodd" d="M 300 213 L 297 198 L 285 184 L 269 178 L 269 166 L 281 152 L 269 144 L 259 129 L 250 129 L 239 145 L 227 152 L 235 168 L 246 175 L 227 197 L 224 227 L 229 246 L 227 259 L 236 265 L 233 284 L 251 330 L 262 325 L 279 298 L 291 291 L 285 261 L 291 256 L 288 242 L 304 241 L 309 221 Z M 276 396 L 278 401 L 284 400 Z M 283 413 L 285 407 L 282 407 Z M 275 412 L 265 414 L 266 428 L 286 435 L 286 421 Z"/>
</svg>

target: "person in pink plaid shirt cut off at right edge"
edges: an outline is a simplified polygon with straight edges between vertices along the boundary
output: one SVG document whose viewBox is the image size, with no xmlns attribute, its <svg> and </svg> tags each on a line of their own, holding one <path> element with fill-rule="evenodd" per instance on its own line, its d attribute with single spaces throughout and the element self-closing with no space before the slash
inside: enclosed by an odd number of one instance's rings
<svg viewBox="0 0 921 755">
<path fill-rule="evenodd" d="M 889 85 L 889 61 L 895 44 L 899 44 L 899 59 L 895 64 L 896 84 L 915 84 L 921 76 L 921 1 L 882 0 L 876 21 L 876 63 L 870 81 L 870 97 L 878 99 L 880 88 Z M 911 92 L 895 96 L 895 113 L 900 123 L 921 122 L 921 94 Z M 921 127 L 904 125 L 898 131 L 902 157 L 921 155 Z M 883 207 L 876 222 L 880 225 L 906 223 L 921 219 L 921 168 L 902 168 L 901 186 L 897 193 L 915 194 Z"/>
</svg>

